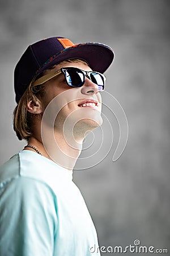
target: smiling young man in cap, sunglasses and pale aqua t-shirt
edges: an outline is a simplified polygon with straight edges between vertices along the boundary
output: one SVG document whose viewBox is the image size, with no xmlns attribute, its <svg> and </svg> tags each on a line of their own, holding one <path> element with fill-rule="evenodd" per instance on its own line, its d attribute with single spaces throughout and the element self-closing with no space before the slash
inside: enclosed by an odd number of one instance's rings
<svg viewBox="0 0 170 256">
<path fill-rule="evenodd" d="M 14 130 L 24 150 L 0 168 L 2 256 L 100 255 L 96 230 L 72 181 L 87 131 L 101 125 L 103 72 L 113 51 L 99 43 L 41 40 L 16 65 Z"/>
</svg>

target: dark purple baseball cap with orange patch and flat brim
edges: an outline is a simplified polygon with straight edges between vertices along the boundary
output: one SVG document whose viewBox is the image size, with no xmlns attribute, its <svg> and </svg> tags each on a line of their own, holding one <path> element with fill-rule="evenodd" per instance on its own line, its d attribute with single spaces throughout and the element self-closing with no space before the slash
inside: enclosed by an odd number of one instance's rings
<svg viewBox="0 0 170 256">
<path fill-rule="evenodd" d="M 101 43 L 74 44 L 57 36 L 33 43 L 25 50 L 14 71 L 15 100 L 18 103 L 28 85 L 45 69 L 68 59 L 82 59 L 94 71 L 104 73 L 114 58 L 113 49 Z"/>
</svg>

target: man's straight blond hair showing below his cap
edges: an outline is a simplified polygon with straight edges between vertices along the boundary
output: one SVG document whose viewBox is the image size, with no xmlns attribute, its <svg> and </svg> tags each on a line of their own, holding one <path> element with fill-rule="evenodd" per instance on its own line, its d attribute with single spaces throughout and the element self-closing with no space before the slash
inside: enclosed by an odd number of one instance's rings
<svg viewBox="0 0 170 256">
<path fill-rule="evenodd" d="M 62 63 L 84 63 L 87 64 L 85 61 L 80 59 L 70 59 L 62 61 Z M 49 69 L 55 68 L 56 65 L 52 66 Z M 40 78 L 40 76 L 43 76 L 45 73 L 42 72 L 40 75 L 36 77 L 36 79 Z M 35 80 L 36 80 L 35 79 Z M 20 98 L 18 105 L 14 109 L 14 131 L 16 133 L 16 136 L 20 141 L 22 139 L 29 140 L 29 138 L 33 135 L 32 130 L 32 122 L 33 118 L 36 114 L 31 114 L 27 110 L 27 104 L 28 101 L 40 101 L 40 98 L 42 98 L 45 94 L 45 83 L 42 85 L 36 85 L 33 86 L 32 82 L 29 84 L 28 88 L 25 90 L 23 96 Z"/>
</svg>

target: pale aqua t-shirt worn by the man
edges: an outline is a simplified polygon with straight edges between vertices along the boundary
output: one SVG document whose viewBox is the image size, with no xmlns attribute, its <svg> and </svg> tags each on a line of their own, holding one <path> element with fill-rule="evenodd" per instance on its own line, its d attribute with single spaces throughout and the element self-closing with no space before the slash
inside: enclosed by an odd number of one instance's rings
<svg viewBox="0 0 170 256">
<path fill-rule="evenodd" d="M 0 168 L 1 256 L 90 256 L 97 235 L 73 172 L 33 151 Z"/>
</svg>

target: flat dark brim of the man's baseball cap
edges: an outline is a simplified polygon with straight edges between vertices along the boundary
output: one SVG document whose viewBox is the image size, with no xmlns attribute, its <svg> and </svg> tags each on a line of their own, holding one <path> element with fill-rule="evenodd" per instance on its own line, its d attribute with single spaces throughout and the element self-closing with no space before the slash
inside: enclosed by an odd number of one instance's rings
<svg viewBox="0 0 170 256">
<path fill-rule="evenodd" d="M 50 57 L 38 70 L 37 74 L 61 63 L 67 59 L 82 59 L 86 61 L 92 70 L 104 73 L 111 65 L 114 58 L 113 49 L 100 43 L 81 43 L 63 49 L 56 55 Z"/>
</svg>

